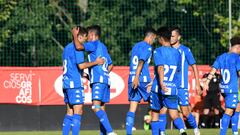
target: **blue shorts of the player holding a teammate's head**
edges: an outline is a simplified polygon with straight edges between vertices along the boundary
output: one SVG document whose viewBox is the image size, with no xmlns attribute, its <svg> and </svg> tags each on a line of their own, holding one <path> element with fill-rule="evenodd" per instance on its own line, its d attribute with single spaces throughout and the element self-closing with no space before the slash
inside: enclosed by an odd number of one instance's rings
<svg viewBox="0 0 240 135">
<path fill-rule="evenodd" d="M 103 103 L 110 101 L 110 87 L 105 83 L 92 84 L 92 100 L 99 100 Z"/>
</svg>

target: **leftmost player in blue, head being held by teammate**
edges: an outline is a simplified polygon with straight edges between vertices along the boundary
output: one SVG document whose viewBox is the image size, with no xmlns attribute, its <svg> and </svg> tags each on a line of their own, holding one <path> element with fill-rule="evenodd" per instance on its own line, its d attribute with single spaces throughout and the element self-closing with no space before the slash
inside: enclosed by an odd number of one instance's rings
<svg viewBox="0 0 240 135">
<path fill-rule="evenodd" d="M 77 39 L 84 42 L 87 39 L 87 30 L 80 27 Z M 81 125 L 82 107 L 84 104 L 84 88 L 81 78 L 83 69 L 103 64 L 104 60 L 84 62 L 84 53 L 77 51 L 74 43 L 69 43 L 63 50 L 63 93 L 67 113 L 63 120 L 62 134 L 68 135 L 72 128 L 72 135 L 78 135 Z"/>
</svg>

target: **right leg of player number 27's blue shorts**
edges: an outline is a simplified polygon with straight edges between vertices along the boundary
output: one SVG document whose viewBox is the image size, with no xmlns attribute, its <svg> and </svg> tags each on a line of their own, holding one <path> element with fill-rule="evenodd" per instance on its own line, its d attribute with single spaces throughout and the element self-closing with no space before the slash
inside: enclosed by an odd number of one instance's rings
<svg viewBox="0 0 240 135">
<path fill-rule="evenodd" d="M 178 96 L 177 95 L 161 95 L 162 104 L 168 109 L 178 109 Z"/>
</svg>

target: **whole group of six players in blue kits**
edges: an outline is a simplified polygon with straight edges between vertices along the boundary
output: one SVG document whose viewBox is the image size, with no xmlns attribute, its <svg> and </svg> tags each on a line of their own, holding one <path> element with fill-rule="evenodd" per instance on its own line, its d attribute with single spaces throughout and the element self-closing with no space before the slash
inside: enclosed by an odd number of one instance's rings
<svg viewBox="0 0 240 135">
<path fill-rule="evenodd" d="M 73 42 L 63 51 L 63 92 L 67 113 L 63 120 L 63 135 L 68 135 L 72 129 L 73 135 L 78 135 L 81 125 L 82 106 L 84 104 L 84 88 L 82 77 L 88 77 L 92 88 L 92 109 L 100 122 L 100 135 L 116 135 L 105 112 L 104 104 L 110 100 L 110 79 L 113 65 L 107 47 L 100 41 L 101 28 L 92 25 L 87 29 L 75 27 L 72 29 Z M 153 50 L 152 45 L 157 39 L 159 47 Z M 188 67 L 192 67 L 196 79 L 196 92 L 201 93 L 196 61 L 191 50 L 180 44 L 181 31 L 178 27 L 169 29 L 160 27 L 155 31 L 148 28 L 144 39 L 134 45 L 130 58 L 130 73 L 128 79 L 129 111 L 126 114 L 126 134 L 132 135 L 134 117 L 138 103 L 143 99 L 149 102 L 151 127 L 153 135 L 165 135 L 166 113 L 169 112 L 175 127 L 181 135 L 186 135 L 185 124 L 179 116 L 178 105 L 195 135 L 200 135 L 198 125 L 189 109 L 188 100 Z M 88 62 L 84 61 L 84 51 L 88 53 Z M 204 88 L 221 70 L 220 88 L 225 97 L 226 110 L 221 121 L 220 135 L 227 132 L 230 120 L 233 134 L 238 134 L 238 76 L 240 76 L 240 37 L 231 39 L 231 49 L 219 56 L 212 70 L 204 80 Z M 149 63 L 153 55 L 154 79 L 151 80 Z M 85 74 L 83 69 L 89 69 Z M 235 122 L 235 123 L 234 123 Z M 236 126 L 234 126 L 236 125 Z"/>
</svg>

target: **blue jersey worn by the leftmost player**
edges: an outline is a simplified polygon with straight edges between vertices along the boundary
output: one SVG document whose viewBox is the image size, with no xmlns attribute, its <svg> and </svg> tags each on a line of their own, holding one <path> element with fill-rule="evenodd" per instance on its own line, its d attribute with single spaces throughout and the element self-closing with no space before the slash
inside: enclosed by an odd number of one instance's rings
<svg viewBox="0 0 240 135">
<path fill-rule="evenodd" d="M 83 51 L 77 51 L 72 43 L 69 43 L 63 50 L 63 88 L 80 88 L 82 87 L 82 70 L 78 64 L 84 62 Z"/>
</svg>

